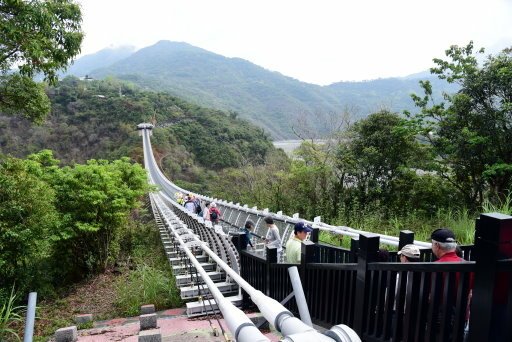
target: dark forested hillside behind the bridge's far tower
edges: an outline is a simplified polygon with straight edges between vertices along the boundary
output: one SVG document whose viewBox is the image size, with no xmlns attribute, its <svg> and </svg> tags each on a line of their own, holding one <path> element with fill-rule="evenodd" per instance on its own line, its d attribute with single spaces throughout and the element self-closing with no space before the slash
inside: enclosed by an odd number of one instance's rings
<svg viewBox="0 0 512 342">
<path fill-rule="evenodd" d="M 25 157 L 51 149 L 66 164 L 122 156 L 140 160 L 136 125 L 150 120 L 156 120 L 154 139 L 161 156 L 172 151 L 181 156 L 172 159 L 176 171 L 194 163 L 208 169 L 234 167 L 244 160 L 262 160 L 272 148 L 261 128 L 235 115 L 165 93 L 141 91 L 128 83 L 68 77 L 47 92 L 52 110 L 42 125 L 19 117 L 0 117 L 1 153 Z"/>
</svg>

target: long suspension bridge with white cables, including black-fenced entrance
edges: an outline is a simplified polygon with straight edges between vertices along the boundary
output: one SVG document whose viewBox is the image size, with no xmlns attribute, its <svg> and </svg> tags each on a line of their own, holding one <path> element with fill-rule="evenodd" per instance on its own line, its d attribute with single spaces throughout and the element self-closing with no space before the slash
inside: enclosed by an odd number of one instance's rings
<svg viewBox="0 0 512 342">
<path fill-rule="evenodd" d="M 159 189 L 151 207 L 189 317 L 221 312 L 237 341 L 268 340 L 240 308 L 261 312 L 283 341 L 512 341 L 512 217 L 482 214 L 475 245 L 461 246 L 464 263 L 433 263 L 430 243 L 410 231 L 373 234 L 194 194 L 217 203 L 222 221 L 212 225 L 176 202 L 176 193 L 191 192 L 158 168 L 152 128 L 138 125 L 145 168 Z M 252 220 L 265 235 L 266 216 L 283 245 L 295 223 L 313 225 L 300 264 L 283 263 L 263 243 L 241 249 L 239 227 Z M 319 242 L 321 231 L 349 237 L 350 248 Z M 377 262 L 381 244 L 410 243 L 421 248 L 421 262 L 400 264 L 396 252 Z"/>
</svg>

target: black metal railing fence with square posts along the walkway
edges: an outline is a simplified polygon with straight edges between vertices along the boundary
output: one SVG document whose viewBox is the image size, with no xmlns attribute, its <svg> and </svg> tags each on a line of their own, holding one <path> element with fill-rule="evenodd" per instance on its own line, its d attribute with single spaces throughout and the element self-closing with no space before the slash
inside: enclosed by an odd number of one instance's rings
<svg viewBox="0 0 512 342">
<path fill-rule="evenodd" d="M 400 245 L 412 238 L 405 232 Z M 475 245 L 462 247 L 463 263 L 432 262 L 429 250 L 419 263 L 398 263 L 396 253 L 395 262 L 376 262 L 379 237 L 372 234 L 350 250 L 313 241 L 303 242 L 302 262 L 293 266 L 314 323 L 346 324 L 364 341 L 512 341 L 511 216 L 481 215 Z M 278 264 L 275 249 L 266 254 L 240 251 L 242 276 L 281 301 L 292 292 L 292 265 Z M 297 313 L 294 300 L 285 306 Z"/>
</svg>

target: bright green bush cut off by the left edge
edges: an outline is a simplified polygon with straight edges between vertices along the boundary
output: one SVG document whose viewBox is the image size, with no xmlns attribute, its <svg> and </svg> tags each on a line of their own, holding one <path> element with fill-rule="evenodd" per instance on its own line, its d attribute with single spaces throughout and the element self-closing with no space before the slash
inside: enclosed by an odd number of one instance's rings
<svg viewBox="0 0 512 342">
<path fill-rule="evenodd" d="M 55 191 L 34 161 L 0 160 L 0 288 L 47 279 L 44 263 L 59 227 Z"/>
</svg>

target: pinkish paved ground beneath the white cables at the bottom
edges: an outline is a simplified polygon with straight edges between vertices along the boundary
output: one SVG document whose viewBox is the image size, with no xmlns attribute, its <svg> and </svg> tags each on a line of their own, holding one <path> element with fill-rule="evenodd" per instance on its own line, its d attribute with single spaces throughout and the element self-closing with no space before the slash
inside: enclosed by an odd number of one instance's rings
<svg viewBox="0 0 512 342">
<path fill-rule="evenodd" d="M 259 314 L 247 314 L 248 317 L 256 317 Z M 212 326 L 217 328 L 219 336 L 213 336 L 212 327 L 208 319 L 187 318 L 185 309 L 172 309 L 157 312 L 157 325 L 162 334 L 162 341 L 176 342 L 202 342 L 202 341 L 224 341 L 222 332 L 215 318 L 210 318 Z M 220 322 L 226 330 L 230 339 L 231 334 L 227 331 L 227 325 L 223 319 Z M 139 318 L 118 318 L 109 321 L 95 322 L 94 328 L 78 331 L 78 341 L 81 342 L 103 342 L 103 341 L 138 341 Z M 275 331 L 264 331 L 270 341 L 279 341 L 280 335 Z"/>
</svg>

